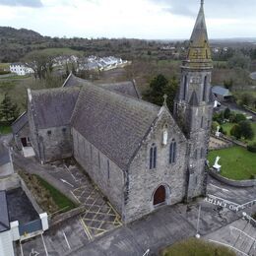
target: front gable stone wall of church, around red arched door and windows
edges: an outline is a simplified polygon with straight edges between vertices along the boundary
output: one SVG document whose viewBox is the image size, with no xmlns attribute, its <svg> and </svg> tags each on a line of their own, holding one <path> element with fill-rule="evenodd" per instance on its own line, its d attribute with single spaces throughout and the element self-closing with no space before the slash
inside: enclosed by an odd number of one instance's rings
<svg viewBox="0 0 256 256">
<path fill-rule="evenodd" d="M 167 126 L 167 144 L 162 144 L 163 127 Z M 169 145 L 172 139 L 177 143 L 176 162 L 169 163 Z M 155 144 L 158 149 L 157 168 L 150 169 L 150 149 Z M 132 161 L 127 182 L 125 198 L 125 223 L 150 214 L 154 206 L 154 194 L 163 185 L 165 204 L 181 202 L 186 193 L 186 139 L 167 111 L 153 128 L 141 149 Z"/>
</svg>

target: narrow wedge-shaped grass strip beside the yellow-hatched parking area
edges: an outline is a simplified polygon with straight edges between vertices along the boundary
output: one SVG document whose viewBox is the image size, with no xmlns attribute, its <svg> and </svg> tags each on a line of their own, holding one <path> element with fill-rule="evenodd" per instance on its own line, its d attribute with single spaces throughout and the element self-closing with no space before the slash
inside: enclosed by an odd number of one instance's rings
<svg viewBox="0 0 256 256">
<path fill-rule="evenodd" d="M 65 195 L 63 195 L 61 192 L 59 192 L 55 187 L 50 185 L 48 182 L 46 182 L 44 179 L 42 179 L 40 176 L 35 175 L 36 178 L 39 180 L 39 183 L 41 186 L 43 186 L 45 189 L 47 189 L 53 198 L 56 205 L 59 207 L 59 209 L 64 209 L 65 212 L 72 210 L 76 207 L 76 205 L 68 199 Z"/>
</svg>

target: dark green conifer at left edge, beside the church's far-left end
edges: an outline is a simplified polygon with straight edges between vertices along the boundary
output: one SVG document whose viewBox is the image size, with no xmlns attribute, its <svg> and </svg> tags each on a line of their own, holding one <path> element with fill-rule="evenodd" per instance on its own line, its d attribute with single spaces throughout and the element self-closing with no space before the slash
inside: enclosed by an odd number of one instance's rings
<svg viewBox="0 0 256 256">
<path fill-rule="evenodd" d="M 12 123 L 19 116 L 20 109 L 17 103 L 13 103 L 8 94 L 5 94 L 3 101 L 0 104 L 0 120 Z"/>
</svg>

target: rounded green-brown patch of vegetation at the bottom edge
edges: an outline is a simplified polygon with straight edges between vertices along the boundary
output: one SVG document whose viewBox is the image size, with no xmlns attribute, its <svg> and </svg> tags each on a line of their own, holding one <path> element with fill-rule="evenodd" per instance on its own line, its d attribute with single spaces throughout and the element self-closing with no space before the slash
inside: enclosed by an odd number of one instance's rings
<svg viewBox="0 0 256 256">
<path fill-rule="evenodd" d="M 214 243 L 196 238 L 177 242 L 164 249 L 160 256 L 235 256 L 235 252 Z"/>
</svg>

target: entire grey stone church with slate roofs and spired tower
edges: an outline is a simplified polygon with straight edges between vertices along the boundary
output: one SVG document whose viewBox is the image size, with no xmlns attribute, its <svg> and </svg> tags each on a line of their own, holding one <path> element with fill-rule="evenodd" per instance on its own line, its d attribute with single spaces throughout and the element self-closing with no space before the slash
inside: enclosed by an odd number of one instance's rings
<svg viewBox="0 0 256 256">
<path fill-rule="evenodd" d="M 165 99 L 142 100 L 134 82 L 94 85 L 71 74 L 62 88 L 28 91 L 16 140 L 29 131 L 41 163 L 74 157 L 124 223 L 189 201 L 206 189 L 212 68 L 202 1 L 173 115 Z"/>
</svg>

